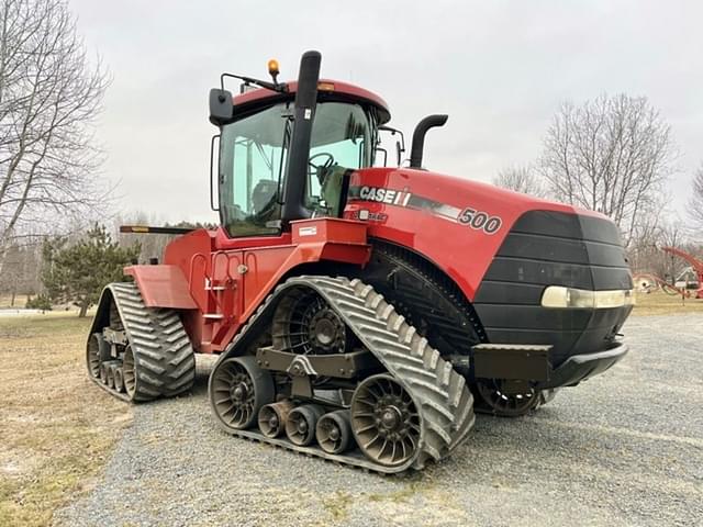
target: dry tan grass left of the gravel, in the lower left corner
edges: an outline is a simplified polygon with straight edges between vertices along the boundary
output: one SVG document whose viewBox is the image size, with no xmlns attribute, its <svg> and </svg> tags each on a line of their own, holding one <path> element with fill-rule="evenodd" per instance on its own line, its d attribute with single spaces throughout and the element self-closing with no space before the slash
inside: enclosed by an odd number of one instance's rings
<svg viewBox="0 0 703 527">
<path fill-rule="evenodd" d="M 90 319 L 0 317 L 0 525 L 48 525 L 103 466 L 127 405 L 83 361 Z"/>
</svg>

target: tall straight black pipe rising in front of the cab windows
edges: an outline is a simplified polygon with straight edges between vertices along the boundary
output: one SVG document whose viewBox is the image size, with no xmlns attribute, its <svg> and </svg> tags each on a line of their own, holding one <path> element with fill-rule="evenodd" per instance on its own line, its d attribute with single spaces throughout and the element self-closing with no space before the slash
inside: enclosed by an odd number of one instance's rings
<svg viewBox="0 0 703 527">
<path fill-rule="evenodd" d="M 293 112 L 293 133 L 290 139 L 286 177 L 283 180 L 283 205 L 281 220 L 283 223 L 308 217 L 310 212 L 304 208 L 305 180 L 308 179 L 308 159 L 312 138 L 312 123 L 317 103 L 317 80 L 320 79 L 319 52 L 305 52 L 300 59 L 298 74 L 298 91 Z"/>
</svg>

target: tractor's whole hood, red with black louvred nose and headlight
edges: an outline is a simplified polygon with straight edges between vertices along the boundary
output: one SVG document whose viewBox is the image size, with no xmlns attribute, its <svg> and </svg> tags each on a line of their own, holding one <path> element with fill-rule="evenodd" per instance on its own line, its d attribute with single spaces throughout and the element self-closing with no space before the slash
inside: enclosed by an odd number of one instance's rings
<svg viewBox="0 0 703 527">
<path fill-rule="evenodd" d="M 347 203 L 347 216 L 368 222 L 369 236 L 448 274 L 488 341 L 548 344 L 554 367 L 616 347 L 633 282 L 607 217 L 413 169 L 357 171 Z M 588 373 L 581 370 L 554 382 L 576 383 Z"/>
</svg>

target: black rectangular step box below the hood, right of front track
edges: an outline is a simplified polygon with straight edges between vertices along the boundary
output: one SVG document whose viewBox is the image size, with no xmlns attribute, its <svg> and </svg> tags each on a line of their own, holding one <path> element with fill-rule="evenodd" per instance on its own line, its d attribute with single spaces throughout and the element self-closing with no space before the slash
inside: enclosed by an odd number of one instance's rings
<svg viewBox="0 0 703 527">
<path fill-rule="evenodd" d="M 478 344 L 473 351 L 473 374 L 480 379 L 548 381 L 551 345 Z"/>
</svg>

